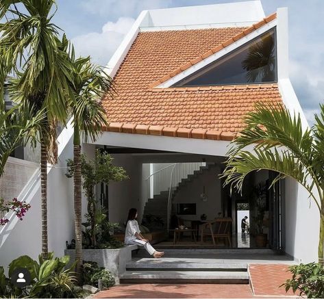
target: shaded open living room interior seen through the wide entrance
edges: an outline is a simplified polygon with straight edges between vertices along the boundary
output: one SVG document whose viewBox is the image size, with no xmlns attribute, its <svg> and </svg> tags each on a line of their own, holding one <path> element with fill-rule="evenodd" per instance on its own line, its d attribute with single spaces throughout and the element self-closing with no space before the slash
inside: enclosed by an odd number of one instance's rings
<svg viewBox="0 0 324 299">
<path fill-rule="evenodd" d="M 105 150 L 129 176 L 98 190 L 110 221 L 121 226 L 116 239 L 123 241 L 135 207 L 140 230 L 156 248 L 282 249 L 283 182 L 270 187 L 272 172 L 251 173 L 239 194 L 221 178 L 225 157 Z"/>
</svg>

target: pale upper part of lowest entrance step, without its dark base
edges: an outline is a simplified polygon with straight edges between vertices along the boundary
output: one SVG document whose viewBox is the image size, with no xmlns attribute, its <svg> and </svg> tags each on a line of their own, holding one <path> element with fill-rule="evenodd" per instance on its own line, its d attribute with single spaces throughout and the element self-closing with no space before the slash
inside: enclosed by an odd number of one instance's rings
<svg viewBox="0 0 324 299">
<path fill-rule="evenodd" d="M 120 279 L 214 279 L 214 280 L 249 280 L 247 272 L 224 271 L 126 271 Z"/>
</svg>

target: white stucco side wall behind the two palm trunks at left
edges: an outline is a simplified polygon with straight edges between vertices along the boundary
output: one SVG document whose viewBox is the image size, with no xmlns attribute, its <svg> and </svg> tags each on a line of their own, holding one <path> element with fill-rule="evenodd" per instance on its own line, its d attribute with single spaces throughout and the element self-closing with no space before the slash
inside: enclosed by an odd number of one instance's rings
<svg viewBox="0 0 324 299">
<path fill-rule="evenodd" d="M 60 161 L 48 168 L 48 236 L 49 251 L 64 255 L 65 241 L 74 235 L 73 181 L 65 177 L 66 159 L 73 155 L 71 127 L 58 138 Z M 22 199 L 22 198 L 21 198 Z M 12 221 L 0 235 L 0 265 L 7 266 L 20 255 L 36 259 L 41 252 L 40 180 L 26 200 L 32 208 L 23 221 Z"/>
</svg>

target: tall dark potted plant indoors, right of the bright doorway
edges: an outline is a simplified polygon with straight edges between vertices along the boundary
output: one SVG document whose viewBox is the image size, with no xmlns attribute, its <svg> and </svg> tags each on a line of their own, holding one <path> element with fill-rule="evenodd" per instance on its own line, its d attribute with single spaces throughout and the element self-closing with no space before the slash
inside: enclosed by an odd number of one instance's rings
<svg viewBox="0 0 324 299">
<path fill-rule="evenodd" d="M 255 225 L 256 246 L 266 247 L 268 235 L 263 232 L 264 212 L 266 211 L 266 192 L 268 187 L 265 181 L 261 181 L 252 190 L 253 222 Z"/>
</svg>

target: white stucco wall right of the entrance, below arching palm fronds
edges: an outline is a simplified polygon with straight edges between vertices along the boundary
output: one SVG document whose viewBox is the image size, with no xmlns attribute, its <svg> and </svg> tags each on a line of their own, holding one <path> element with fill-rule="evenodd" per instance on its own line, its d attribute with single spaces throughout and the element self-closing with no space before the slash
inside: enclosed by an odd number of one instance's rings
<svg viewBox="0 0 324 299">
<path fill-rule="evenodd" d="M 285 251 L 299 263 L 317 261 L 319 211 L 308 192 L 293 179 L 285 179 Z"/>
</svg>

